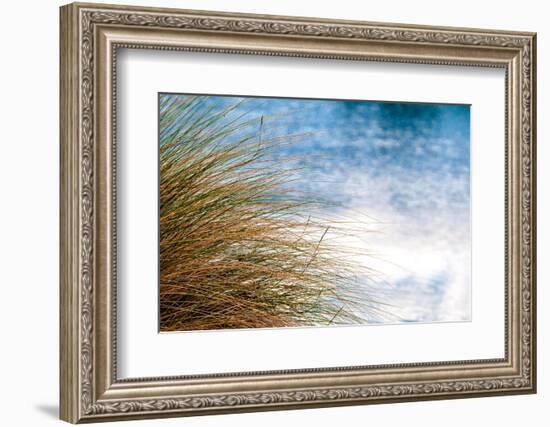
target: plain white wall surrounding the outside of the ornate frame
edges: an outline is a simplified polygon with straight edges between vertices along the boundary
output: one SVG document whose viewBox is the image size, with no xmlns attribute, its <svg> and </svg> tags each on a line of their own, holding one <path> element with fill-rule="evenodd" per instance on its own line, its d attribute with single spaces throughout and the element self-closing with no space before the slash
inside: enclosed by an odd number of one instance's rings
<svg viewBox="0 0 550 427">
<path fill-rule="evenodd" d="M 113 3 L 118 1 L 111 0 Z M 130 0 L 129 0 L 130 1 Z M 124 3 L 124 2 L 121 2 Z M 544 2 L 162 0 L 134 4 L 537 31 L 538 117 L 550 115 L 550 29 Z M 0 401 L 3 425 L 46 426 L 58 401 L 58 6 L 4 2 L 0 65 Z M 546 12 L 546 14 L 545 14 Z M 140 421 L 130 425 L 541 425 L 550 404 L 548 222 L 550 132 L 539 119 L 539 393 L 438 402 Z"/>
</svg>

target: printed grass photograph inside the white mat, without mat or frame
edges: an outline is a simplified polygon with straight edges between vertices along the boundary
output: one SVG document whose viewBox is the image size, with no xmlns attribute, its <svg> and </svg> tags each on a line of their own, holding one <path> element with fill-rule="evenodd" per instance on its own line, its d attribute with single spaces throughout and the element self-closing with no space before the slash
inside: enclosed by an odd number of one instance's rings
<svg viewBox="0 0 550 427">
<path fill-rule="evenodd" d="M 161 332 L 470 320 L 469 105 L 158 105 Z"/>
</svg>

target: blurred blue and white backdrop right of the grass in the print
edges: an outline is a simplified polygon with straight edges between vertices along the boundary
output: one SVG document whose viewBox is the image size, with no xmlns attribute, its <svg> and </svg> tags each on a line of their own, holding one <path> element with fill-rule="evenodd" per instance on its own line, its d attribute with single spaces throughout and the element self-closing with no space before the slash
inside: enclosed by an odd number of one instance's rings
<svg viewBox="0 0 550 427">
<path fill-rule="evenodd" d="M 209 97 L 260 118 L 267 136 L 302 135 L 298 185 L 360 218 L 347 241 L 376 270 L 391 316 L 375 322 L 470 320 L 470 108 L 467 105 Z M 334 212 L 332 212 L 334 213 Z"/>
</svg>

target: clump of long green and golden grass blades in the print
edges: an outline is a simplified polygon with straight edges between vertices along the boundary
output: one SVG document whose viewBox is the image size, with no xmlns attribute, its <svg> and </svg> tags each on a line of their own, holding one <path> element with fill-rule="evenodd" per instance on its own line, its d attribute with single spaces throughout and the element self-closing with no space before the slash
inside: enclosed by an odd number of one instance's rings
<svg viewBox="0 0 550 427">
<path fill-rule="evenodd" d="M 329 243 L 323 202 L 292 188 L 263 117 L 161 97 L 160 329 L 365 323 L 362 267 Z"/>
</svg>

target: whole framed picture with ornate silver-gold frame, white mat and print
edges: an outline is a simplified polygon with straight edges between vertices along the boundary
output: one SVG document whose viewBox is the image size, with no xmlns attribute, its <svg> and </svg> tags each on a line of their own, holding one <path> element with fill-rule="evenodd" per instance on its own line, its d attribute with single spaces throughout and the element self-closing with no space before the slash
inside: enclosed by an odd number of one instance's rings
<svg viewBox="0 0 550 427">
<path fill-rule="evenodd" d="M 60 42 L 63 420 L 535 392 L 535 34 L 70 4 Z"/>
</svg>

